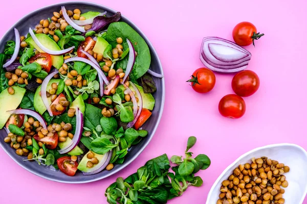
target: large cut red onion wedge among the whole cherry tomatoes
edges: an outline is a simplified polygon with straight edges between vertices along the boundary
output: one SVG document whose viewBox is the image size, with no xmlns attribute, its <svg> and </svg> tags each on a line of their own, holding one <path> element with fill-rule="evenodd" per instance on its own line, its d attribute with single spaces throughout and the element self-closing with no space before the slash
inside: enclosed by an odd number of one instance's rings
<svg viewBox="0 0 307 204">
<path fill-rule="evenodd" d="M 218 37 L 203 39 L 200 59 L 213 71 L 231 73 L 244 70 L 251 57 L 248 50 L 229 40 Z"/>
</svg>

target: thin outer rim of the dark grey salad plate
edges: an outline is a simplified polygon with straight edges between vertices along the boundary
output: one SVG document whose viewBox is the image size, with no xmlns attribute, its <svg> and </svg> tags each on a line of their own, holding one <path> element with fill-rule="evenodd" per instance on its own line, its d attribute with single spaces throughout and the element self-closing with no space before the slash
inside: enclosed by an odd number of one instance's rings
<svg viewBox="0 0 307 204">
<path fill-rule="evenodd" d="M 31 16 L 31 14 L 33 13 L 36 13 L 36 12 L 39 12 L 41 9 L 48 9 L 49 7 L 53 7 L 53 6 L 65 6 L 65 5 L 73 5 L 73 4 L 84 4 L 84 5 L 90 5 L 90 6 L 94 6 L 94 7 L 100 7 L 102 9 L 108 9 L 108 10 L 111 10 L 112 12 L 116 13 L 116 11 L 114 9 L 111 9 L 109 7 L 106 7 L 106 6 L 103 6 L 103 5 L 100 5 L 100 4 L 97 4 L 97 3 L 93 3 L 93 2 L 77 2 L 77 1 L 72 1 L 72 2 L 62 2 L 62 3 L 57 3 L 57 4 L 52 4 L 52 5 L 49 5 L 49 6 L 46 6 L 46 7 L 41 7 L 39 9 L 36 9 L 32 12 L 30 12 L 29 14 L 25 15 L 24 17 L 20 18 L 14 25 L 12 25 L 11 28 L 14 28 L 18 23 L 19 21 L 23 20 L 24 18 L 26 17 L 29 17 Z M 135 30 L 139 33 L 139 34 L 142 34 L 142 37 L 144 38 L 144 40 L 146 41 L 146 43 L 148 44 L 150 50 L 152 50 L 151 52 L 151 55 L 155 56 L 157 58 L 157 63 L 158 63 L 158 67 L 161 71 L 161 74 L 163 74 L 163 69 L 162 69 L 162 64 L 161 64 L 161 61 L 159 59 L 159 56 L 156 52 L 156 49 L 153 47 L 153 45 L 151 44 L 151 42 L 149 41 L 149 39 L 146 37 L 146 35 L 139 29 L 139 27 L 137 27 L 137 25 L 131 21 L 130 19 L 128 19 L 127 17 L 125 17 L 124 15 L 121 15 L 122 18 L 124 20 L 127 20 L 129 21 L 129 23 L 133 24 L 134 27 L 135 27 Z M 8 32 L 9 32 L 10 29 L 8 29 L 7 32 L 4 33 L 4 35 L 2 36 L 1 40 L 0 40 L 0 44 L 2 43 L 2 40 L 3 40 L 3 37 L 8 35 Z M 146 148 L 146 146 L 149 144 L 149 142 L 151 141 L 152 137 L 155 135 L 156 131 L 157 131 L 157 128 L 159 126 L 159 123 L 160 123 L 160 120 L 161 120 L 161 117 L 162 117 L 162 113 L 163 113 L 163 109 L 164 109 L 164 102 L 165 102 L 165 81 L 164 81 L 164 78 L 160 79 L 162 80 L 162 104 L 161 104 L 161 108 L 160 108 L 160 112 L 159 112 L 159 116 L 158 116 L 158 120 L 156 121 L 156 124 L 155 126 L 153 127 L 153 130 L 151 131 L 151 136 L 149 137 L 149 139 L 147 140 L 147 142 L 138 150 L 137 154 L 135 154 L 132 159 L 128 162 L 125 162 L 124 164 L 122 164 L 120 166 L 120 168 L 114 170 L 114 171 L 109 171 L 109 174 L 107 175 L 102 175 L 102 176 L 98 176 L 97 178 L 95 179 L 91 179 L 91 180 L 86 180 L 86 181 L 62 181 L 62 180 L 58 180 L 58 179 L 53 179 L 53 178 L 50 178 L 48 176 L 45 176 L 44 174 L 40 173 L 40 172 L 33 172 L 31 171 L 27 166 L 23 165 L 22 162 L 18 161 L 18 160 L 15 160 L 11 154 L 4 148 L 4 144 L 2 142 L 0 142 L 0 146 L 3 148 L 3 150 L 21 167 L 23 167 L 24 169 L 28 170 L 29 172 L 37 175 L 37 176 L 40 176 L 42 177 L 43 179 L 47 179 L 47 180 L 50 180 L 50 181 L 54 181 L 54 182 L 59 182 L 59 183 L 67 183 L 67 184 L 84 184 L 84 183 L 91 183 L 91 182 L 95 182 L 95 181 L 99 181 L 99 180 L 102 180 L 102 179 L 105 179 L 106 177 L 109 177 L 117 172 L 119 172 L 120 170 L 124 169 L 126 166 L 128 166 L 131 162 L 133 162 L 143 151 L 144 149 Z M 86 176 L 86 175 L 84 175 Z"/>
</svg>

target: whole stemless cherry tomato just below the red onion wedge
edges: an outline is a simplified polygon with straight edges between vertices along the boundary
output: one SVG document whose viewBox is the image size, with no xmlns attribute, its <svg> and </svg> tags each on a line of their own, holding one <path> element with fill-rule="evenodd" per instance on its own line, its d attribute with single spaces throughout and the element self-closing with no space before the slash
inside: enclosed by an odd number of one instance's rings
<svg viewBox="0 0 307 204">
<path fill-rule="evenodd" d="M 246 97 L 253 95 L 259 88 L 258 75 L 251 70 L 243 70 L 234 75 L 231 87 L 239 96 Z"/>
</svg>

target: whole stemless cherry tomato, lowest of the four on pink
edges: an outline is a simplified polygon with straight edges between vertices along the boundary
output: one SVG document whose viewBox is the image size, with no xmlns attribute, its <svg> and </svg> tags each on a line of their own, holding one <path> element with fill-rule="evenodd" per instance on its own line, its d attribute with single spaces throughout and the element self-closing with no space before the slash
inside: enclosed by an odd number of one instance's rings
<svg viewBox="0 0 307 204">
<path fill-rule="evenodd" d="M 218 111 L 221 115 L 228 118 L 240 118 L 246 110 L 245 101 L 242 97 L 235 94 L 224 96 L 218 104 Z"/>
</svg>

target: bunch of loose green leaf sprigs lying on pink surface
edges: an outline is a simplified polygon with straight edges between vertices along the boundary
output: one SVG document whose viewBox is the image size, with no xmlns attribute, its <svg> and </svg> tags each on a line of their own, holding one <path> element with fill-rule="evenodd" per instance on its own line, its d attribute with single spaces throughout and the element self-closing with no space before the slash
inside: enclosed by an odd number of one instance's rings
<svg viewBox="0 0 307 204">
<path fill-rule="evenodd" d="M 194 174 L 207 169 L 211 161 L 203 154 L 192 158 L 193 153 L 189 149 L 195 143 L 196 138 L 189 137 L 185 158 L 182 156 L 170 158 L 173 167 L 170 167 L 169 159 L 164 154 L 147 161 L 136 173 L 125 180 L 118 177 L 116 182 L 105 191 L 107 202 L 111 204 L 167 203 L 169 199 L 181 196 L 189 186 L 202 186 L 203 180 Z"/>
</svg>

